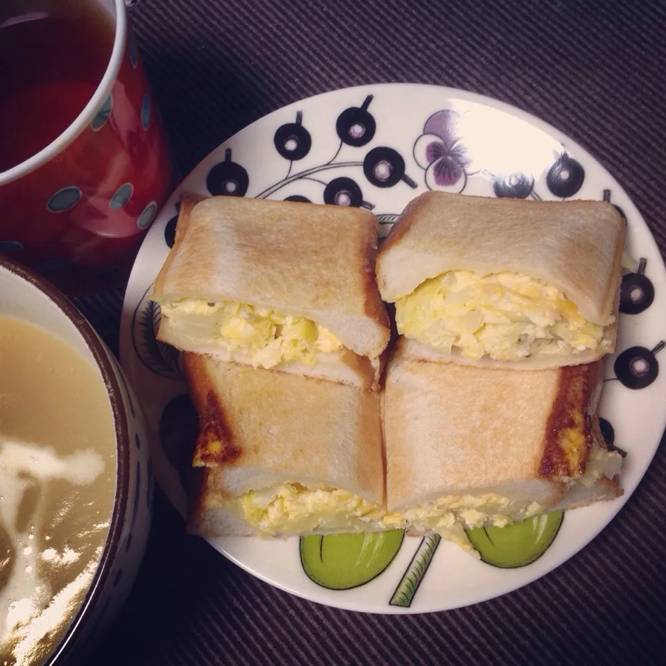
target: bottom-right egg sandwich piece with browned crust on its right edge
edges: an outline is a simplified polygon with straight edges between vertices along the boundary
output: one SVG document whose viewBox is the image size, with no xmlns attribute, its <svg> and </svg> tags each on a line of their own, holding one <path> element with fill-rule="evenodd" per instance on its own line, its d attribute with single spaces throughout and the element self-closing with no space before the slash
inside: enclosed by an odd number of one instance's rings
<svg viewBox="0 0 666 666">
<path fill-rule="evenodd" d="M 471 549 L 466 528 L 618 497 L 601 381 L 601 361 L 488 370 L 408 359 L 400 341 L 384 395 L 387 511 Z"/>
</svg>

